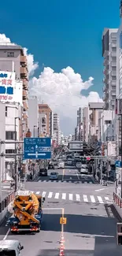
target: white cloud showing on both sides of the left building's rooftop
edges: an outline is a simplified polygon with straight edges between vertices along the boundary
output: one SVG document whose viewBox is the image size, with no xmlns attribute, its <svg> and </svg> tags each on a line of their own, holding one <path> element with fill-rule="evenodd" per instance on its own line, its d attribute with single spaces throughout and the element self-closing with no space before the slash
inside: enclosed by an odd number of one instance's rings
<svg viewBox="0 0 122 256">
<path fill-rule="evenodd" d="M 15 43 L 11 43 L 11 40 L 7 38 L 5 34 L 0 34 L 0 44 L 2 43 L 15 45 Z M 37 69 L 39 65 L 35 63 L 33 54 L 28 54 L 27 48 L 24 48 L 24 54 L 27 56 L 29 76 L 33 76 L 35 69 Z"/>
</svg>

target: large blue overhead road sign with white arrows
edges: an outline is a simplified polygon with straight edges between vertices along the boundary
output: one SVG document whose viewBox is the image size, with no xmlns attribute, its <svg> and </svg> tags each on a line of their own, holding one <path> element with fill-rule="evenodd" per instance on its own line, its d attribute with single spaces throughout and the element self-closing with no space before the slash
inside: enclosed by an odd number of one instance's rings
<svg viewBox="0 0 122 256">
<path fill-rule="evenodd" d="M 50 138 L 24 138 L 24 159 L 50 159 Z"/>
</svg>

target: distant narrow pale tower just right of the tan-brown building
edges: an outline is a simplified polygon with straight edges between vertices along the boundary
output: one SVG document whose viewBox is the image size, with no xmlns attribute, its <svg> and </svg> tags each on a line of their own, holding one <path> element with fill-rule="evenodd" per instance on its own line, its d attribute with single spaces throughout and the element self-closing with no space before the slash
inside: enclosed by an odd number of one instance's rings
<svg viewBox="0 0 122 256">
<path fill-rule="evenodd" d="M 60 119 L 57 113 L 54 113 L 54 140 L 58 145 L 61 144 Z"/>
</svg>

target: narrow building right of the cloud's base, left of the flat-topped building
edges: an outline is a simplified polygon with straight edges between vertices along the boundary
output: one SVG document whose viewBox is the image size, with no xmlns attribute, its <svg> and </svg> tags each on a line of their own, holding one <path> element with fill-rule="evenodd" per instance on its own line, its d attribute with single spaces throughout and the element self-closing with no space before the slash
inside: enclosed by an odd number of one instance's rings
<svg viewBox="0 0 122 256">
<path fill-rule="evenodd" d="M 87 107 L 83 108 L 83 141 L 89 142 L 90 135 L 90 114 L 91 110 Z"/>
</svg>

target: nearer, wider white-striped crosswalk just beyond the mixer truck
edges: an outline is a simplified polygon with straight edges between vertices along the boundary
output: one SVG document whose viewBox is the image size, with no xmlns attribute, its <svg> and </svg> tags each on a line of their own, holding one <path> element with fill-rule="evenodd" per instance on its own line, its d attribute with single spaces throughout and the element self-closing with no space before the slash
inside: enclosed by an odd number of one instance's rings
<svg viewBox="0 0 122 256">
<path fill-rule="evenodd" d="M 113 198 L 112 197 L 104 197 L 100 195 L 80 195 L 80 194 L 71 194 L 71 193 L 59 193 L 59 192 L 47 192 L 47 191 L 31 191 L 35 193 L 35 195 L 42 195 L 45 198 L 52 198 L 57 200 L 67 200 L 70 202 L 86 202 L 86 203 L 99 203 L 99 204 L 105 204 L 105 203 L 112 203 Z"/>
</svg>

